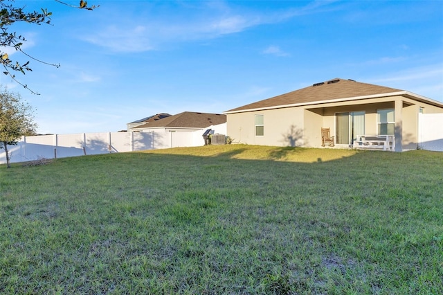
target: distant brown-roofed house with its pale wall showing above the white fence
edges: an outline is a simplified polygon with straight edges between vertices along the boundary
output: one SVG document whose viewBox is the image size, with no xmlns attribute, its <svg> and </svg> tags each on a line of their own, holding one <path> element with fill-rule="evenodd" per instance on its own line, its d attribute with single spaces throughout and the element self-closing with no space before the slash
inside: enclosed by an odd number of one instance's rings
<svg viewBox="0 0 443 295">
<path fill-rule="evenodd" d="M 224 123 L 226 123 L 226 115 L 224 114 L 183 111 L 183 113 L 174 116 L 167 116 L 154 122 L 138 125 L 132 130 L 148 132 L 163 129 L 169 132 L 192 132 Z"/>
</svg>

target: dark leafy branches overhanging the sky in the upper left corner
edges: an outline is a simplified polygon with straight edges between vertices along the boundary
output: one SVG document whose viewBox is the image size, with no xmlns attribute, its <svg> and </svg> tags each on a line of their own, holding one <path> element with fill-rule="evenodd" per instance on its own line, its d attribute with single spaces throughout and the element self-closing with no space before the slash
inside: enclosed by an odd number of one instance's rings
<svg viewBox="0 0 443 295">
<path fill-rule="evenodd" d="M 94 8 L 98 7 L 98 6 L 88 7 L 87 1 L 83 0 L 80 1 L 79 6 L 72 6 L 68 3 L 64 3 L 58 0 L 55 1 L 62 3 L 63 5 L 66 6 L 86 9 L 86 10 L 93 10 Z M 29 67 L 30 61 L 21 64 L 17 61 L 11 60 L 8 53 L 4 51 L 4 48 L 15 49 L 15 51 L 20 51 L 21 53 L 29 57 L 31 60 L 42 62 L 44 64 L 50 64 L 42 60 L 38 60 L 37 58 L 28 55 L 28 53 L 24 52 L 21 49 L 21 46 L 23 45 L 23 42 L 26 42 L 26 38 L 22 35 L 17 34 L 17 32 L 10 30 L 10 28 L 13 24 L 17 22 L 26 22 L 29 24 L 37 24 L 37 25 L 51 24 L 51 15 L 52 12 L 48 12 L 46 8 L 42 8 L 41 11 L 38 12 L 37 11 L 26 12 L 24 7 L 16 7 L 15 2 L 13 0 L 0 0 L 0 64 L 4 68 L 3 74 L 9 75 L 10 78 L 12 78 L 12 80 L 21 84 L 21 86 L 25 87 L 26 89 L 35 94 L 38 93 L 29 89 L 28 85 L 19 82 L 19 80 L 17 80 L 15 76 L 15 73 L 17 72 L 25 74 L 26 71 L 32 71 L 32 69 Z M 50 64 L 50 65 L 56 67 L 60 66 L 60 64 Z"/>
</svg>

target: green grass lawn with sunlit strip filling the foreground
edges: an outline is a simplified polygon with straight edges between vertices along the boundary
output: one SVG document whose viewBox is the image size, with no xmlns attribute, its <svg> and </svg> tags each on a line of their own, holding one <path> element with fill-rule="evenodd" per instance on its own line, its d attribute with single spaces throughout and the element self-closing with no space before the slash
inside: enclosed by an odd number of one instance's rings
<svg viewBox="0 0 443 295">
<path fill-rule="evenodd" d="M 1 294 L 443 294 L 443 153 L 252 145 L 0 166 Z"/>
</svg>

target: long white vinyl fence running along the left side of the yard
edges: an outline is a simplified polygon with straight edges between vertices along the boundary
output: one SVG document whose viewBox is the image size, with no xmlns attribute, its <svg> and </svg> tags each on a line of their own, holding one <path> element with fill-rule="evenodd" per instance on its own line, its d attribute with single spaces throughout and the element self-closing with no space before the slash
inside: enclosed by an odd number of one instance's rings
<svg viewBox="0 0 443 295">
<path fill-rule="evenodd" d="M 168 147 L 193 147 L 204 145 L 206 129 L 226 134 L 226 123 L 210 126 L 194 132 L 170 132 L 156 129 L 150 132 L 104 132 L 81 134 L 53 134 L 23 136 L 17 145 L 8 145 L 10 162 L 25 162 L 37 159 L 55 159 L 107 154 L 114 152 L 134 152 Z M 6 163 L 6 153 L 0 150 L 0 164 Z"/>
</svg>

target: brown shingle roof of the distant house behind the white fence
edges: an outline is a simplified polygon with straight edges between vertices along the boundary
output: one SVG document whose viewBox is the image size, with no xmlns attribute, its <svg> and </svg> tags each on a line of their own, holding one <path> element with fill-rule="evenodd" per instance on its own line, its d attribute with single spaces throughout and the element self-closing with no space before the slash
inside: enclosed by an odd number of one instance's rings
<svg viewBox="0 0 443 295">
<path fill-rule="evenodd" d="M 183 111 L 183 113 L 168 116 L 151 123 L 137 126 L 136 128 L 147 127 L 179 127 L 179 128 L 206 128 L 211 125 L 226 123 L 226 115 L 198 113 L 192 111 Z"/>
</svg>

